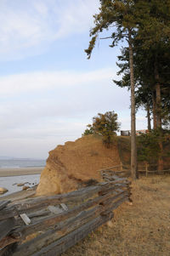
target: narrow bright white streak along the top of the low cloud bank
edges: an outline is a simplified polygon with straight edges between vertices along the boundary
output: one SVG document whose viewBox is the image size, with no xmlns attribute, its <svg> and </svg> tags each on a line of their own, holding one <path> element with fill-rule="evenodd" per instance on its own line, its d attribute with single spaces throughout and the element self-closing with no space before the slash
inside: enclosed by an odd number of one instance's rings
<svg viewBox="0 0 170 256">
<path fill-rule="evenodd" d="M 70 88 L 115 77 L 111 68 L 98 71 L 44 71 L 0 77 L 0 96 L 56 88 Z"/>
</svg>

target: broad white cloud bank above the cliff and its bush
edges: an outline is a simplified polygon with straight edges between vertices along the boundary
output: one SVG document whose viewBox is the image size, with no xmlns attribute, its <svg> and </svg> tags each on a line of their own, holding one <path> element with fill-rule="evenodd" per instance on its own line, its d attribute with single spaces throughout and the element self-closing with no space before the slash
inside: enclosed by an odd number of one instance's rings
<svg viewBox="0 0 170 256">
<path fill-rule="evenodd" d="M 128 108 L 129 94 L 113 85 L 114 73 L 108 68 L 0 77 L 1 137 L 35 133 L 45 138 L 59 129 L 64 138 L 75 134 L 77 128 L 77 134 L 82 134 L 98 112 L 114 110 L 119 114 Z"/>
</svg>

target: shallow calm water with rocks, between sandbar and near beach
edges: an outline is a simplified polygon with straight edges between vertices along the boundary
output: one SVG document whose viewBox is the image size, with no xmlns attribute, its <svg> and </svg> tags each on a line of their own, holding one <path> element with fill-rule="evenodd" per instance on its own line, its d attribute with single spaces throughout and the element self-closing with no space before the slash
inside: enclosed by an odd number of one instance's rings
<svg viewBox="0 0 170 256">
<path fill-rule="evenodd" d="M 27 186 L 37 185 L 40 180 L 40 174 L 0 177 L 0 187 L 8 189 L 8 192 L 1 195 L 7 196 L 17 191 L 22 191 L 22 186 L 17 186 L 18 183 L 26 183 Z"/>
</svg>

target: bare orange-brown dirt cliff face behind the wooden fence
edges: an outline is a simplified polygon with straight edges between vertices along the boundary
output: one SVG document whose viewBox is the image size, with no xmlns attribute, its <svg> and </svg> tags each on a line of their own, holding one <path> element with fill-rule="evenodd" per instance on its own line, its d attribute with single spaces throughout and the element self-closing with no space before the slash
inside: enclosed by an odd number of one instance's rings
<svg viewBox="0 0 170 256">
<path fill-rule="evenodd" d="M 74 191 L 89 179 L 99 181 L 99 169 L 117 164 L 120 164 L 117 145 L 108 149 L 101 138 L 94 135 L 58 145 L 49 152 L 47 165 L 37 187 L 37 196 Z"/>
</svg>

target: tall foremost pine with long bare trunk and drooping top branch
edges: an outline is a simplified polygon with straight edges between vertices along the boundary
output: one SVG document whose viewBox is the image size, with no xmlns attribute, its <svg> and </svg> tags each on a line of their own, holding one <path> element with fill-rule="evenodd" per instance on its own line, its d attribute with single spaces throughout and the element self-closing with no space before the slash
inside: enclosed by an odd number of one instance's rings
<svg viewBox="0 0 170 256">
<path fill-rule="evenodd" d="M 90 58 L 99 33 L 111 29 L 112 43 L 114 47 L 118 42 L 125 39 L 128 44 L 130 85 L 131 85 L 131 172 L 133 179 L 137 174 L 137 146 L 136 146 L 136 120 L 135 120 L 135 97 L 133 77 L 133 37 L 136 33 L 135 1 L 133 0 L 100 0 L 99 14 L 94 15 L 94 28 L 90 32 L 92 37 L 88 49 L 85 52 Z M 113 28 L 112 28 L 113 27 Z"/>
</svg>

